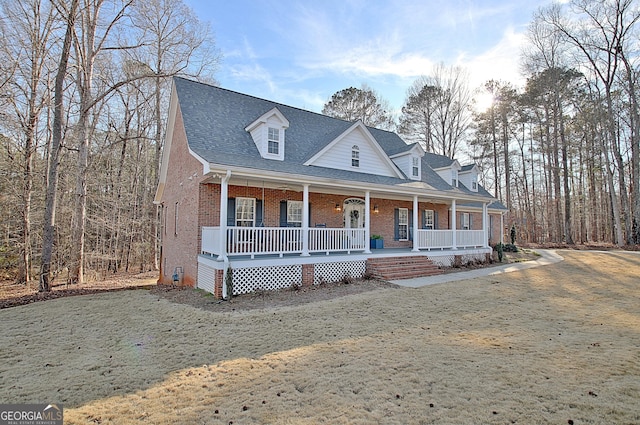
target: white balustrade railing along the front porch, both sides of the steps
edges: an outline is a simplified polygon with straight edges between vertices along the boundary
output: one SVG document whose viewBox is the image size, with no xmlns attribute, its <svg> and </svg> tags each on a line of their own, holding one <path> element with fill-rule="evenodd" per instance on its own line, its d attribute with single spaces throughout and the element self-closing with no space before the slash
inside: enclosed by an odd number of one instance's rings
<svg viewBox="0 0 640 425">
<path fill-rule="evenodd" d="M 309 228 L 309 252 L 365 251 L 364 229 Z M 418 249 L 453 248 L 453 230 L 424 230 L 414 232 Z M 456 230 L 456 247 L 473 248 L 486 245 L 482 230 Z M 300 227 L 228 227 L 226 255 L 300 254 L 302 253 Z M 220 255 L 220 228 L 202 228 L 202 252 Z"/>
</svg>

